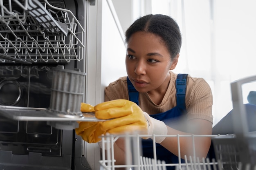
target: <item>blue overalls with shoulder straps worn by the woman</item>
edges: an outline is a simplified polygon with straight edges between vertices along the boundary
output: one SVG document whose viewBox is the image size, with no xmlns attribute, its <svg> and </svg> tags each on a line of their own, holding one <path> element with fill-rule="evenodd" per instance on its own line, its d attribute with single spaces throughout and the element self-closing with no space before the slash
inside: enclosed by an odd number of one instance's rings
<svg viewBox="0 0 256 170">
<path fill-rule="evenodd" d="M 167 110 L 164 113 L 158 113 L 155 115 L 150 115 L 151 117 L 164 121 L 168 124 L 175 118 L 181 117 L 186 114 L 186 104 L 185 104 L 185 93 L 186 93 L 186 78 L 187 74 L 178 74 L 176 79 L 176 100 L 177 106 L 171 110 Z M 139 105 L 139 92 L 136 91 L 129 78 L 127 77 L 129 100 L 135 102 Z M 170 120 L 171 119 L 171 120 Z M 143 156 L 148 158 L 153 158 L 153 141 L 152 139 L 142 139 L 142 150 Z M 156 153 L 158 160 L 164 160 L 166 163 L 178 163 L 178 157 L 168 151 L 166 148 L 160 144 L 156 144 Z M 184 163 L 184 160 L 181 160 Z M 167 170 L 174 170 L 175 166 L 166 167 Z"/>
</svg>

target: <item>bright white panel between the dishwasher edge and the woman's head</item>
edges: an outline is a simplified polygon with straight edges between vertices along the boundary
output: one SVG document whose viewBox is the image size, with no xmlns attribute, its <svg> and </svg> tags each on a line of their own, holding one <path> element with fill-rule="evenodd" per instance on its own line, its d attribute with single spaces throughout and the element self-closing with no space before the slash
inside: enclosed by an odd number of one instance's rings
<svg viewBox="0 0 256 170">
<path fill-rule="evenodd" d="M 104 101 L 104 88 L 119 77 L 126 76 L 124 31 L 111 0 L 102 1 L 101 37 L 101 101 Z M 122 35 L 120 35 L 122 34 Z"/>
</svg>

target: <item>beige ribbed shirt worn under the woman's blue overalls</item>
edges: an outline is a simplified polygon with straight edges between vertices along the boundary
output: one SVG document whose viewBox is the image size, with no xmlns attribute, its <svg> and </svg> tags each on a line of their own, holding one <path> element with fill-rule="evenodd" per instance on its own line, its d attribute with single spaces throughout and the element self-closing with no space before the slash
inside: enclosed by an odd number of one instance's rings
<svg viewBox="0 0 256 170">
<path fill-rule="evenodd" d="M 155 104 L 148 93 L 139 93 L 139 107 L 149 115 L 163 113 L 176 106 L 175 80 L 177 74 L 172 71 L 170 74 L 170 83 L 160 104 Z M 115 99 L 129 100 L 127 76 L 117 79 L 105 88 L 105 101 Z M 185 100 L 187 119 L 205 119 L 213 122 L 211 88 L 204 79 L 188 75 Z"/>
</svg>

